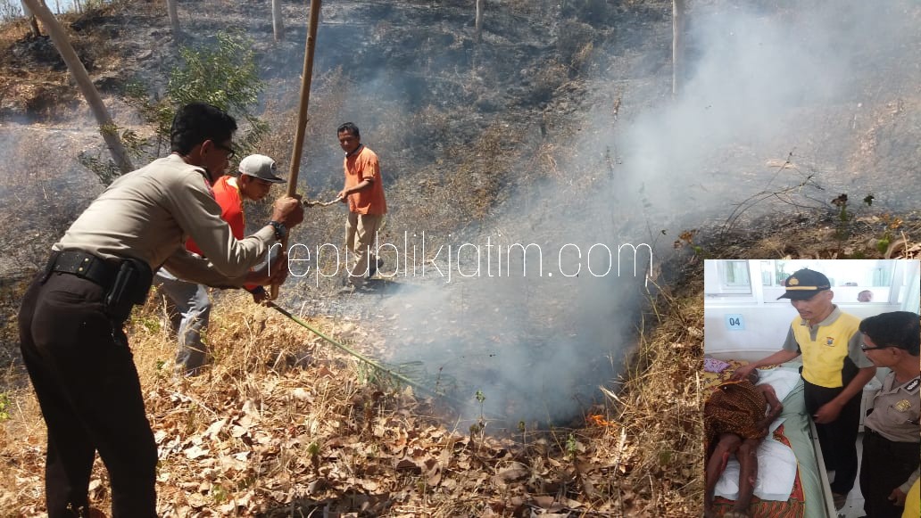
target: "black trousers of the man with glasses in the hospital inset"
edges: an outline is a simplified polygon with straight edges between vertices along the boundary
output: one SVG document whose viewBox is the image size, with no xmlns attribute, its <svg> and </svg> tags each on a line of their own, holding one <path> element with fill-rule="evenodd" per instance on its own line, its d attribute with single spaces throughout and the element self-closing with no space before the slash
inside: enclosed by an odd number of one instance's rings
<svg viewBox="0 0 921 518">
<path fill-rule="evenodd" d="M 904 507 L 896 507 L 889 495 L 917 469 L 919 458 L 921 443 L 896 443 L 869 427 L 864 428 L 860 492 L 864 496 L 867 516 L 902 518 Z"/>
</svg>

